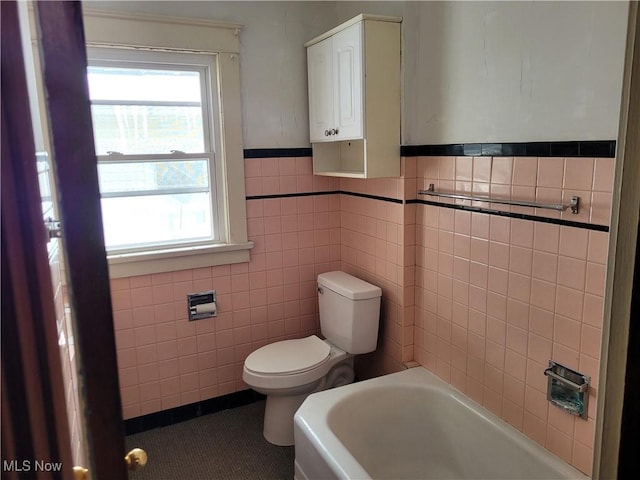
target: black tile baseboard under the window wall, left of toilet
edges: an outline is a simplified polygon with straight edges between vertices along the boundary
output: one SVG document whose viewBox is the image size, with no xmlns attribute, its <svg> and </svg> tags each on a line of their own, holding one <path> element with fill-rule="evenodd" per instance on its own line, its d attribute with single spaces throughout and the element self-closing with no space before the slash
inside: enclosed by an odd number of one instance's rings
<svg viewBox="0 0 640 480">
<path fill-rule="evenodd" d="M 263 400 L 264 398 L 266 398 L 264 395 L 253 390 L 242 390 L 240 392 L 210 398 L 209 400 L 130 418 L 124 421 L 125 435 L 133 435 L 134 433 L 145 432 L 154 428 L 166 427 L 202 415 L 248 405 Z"/>
</svg>

